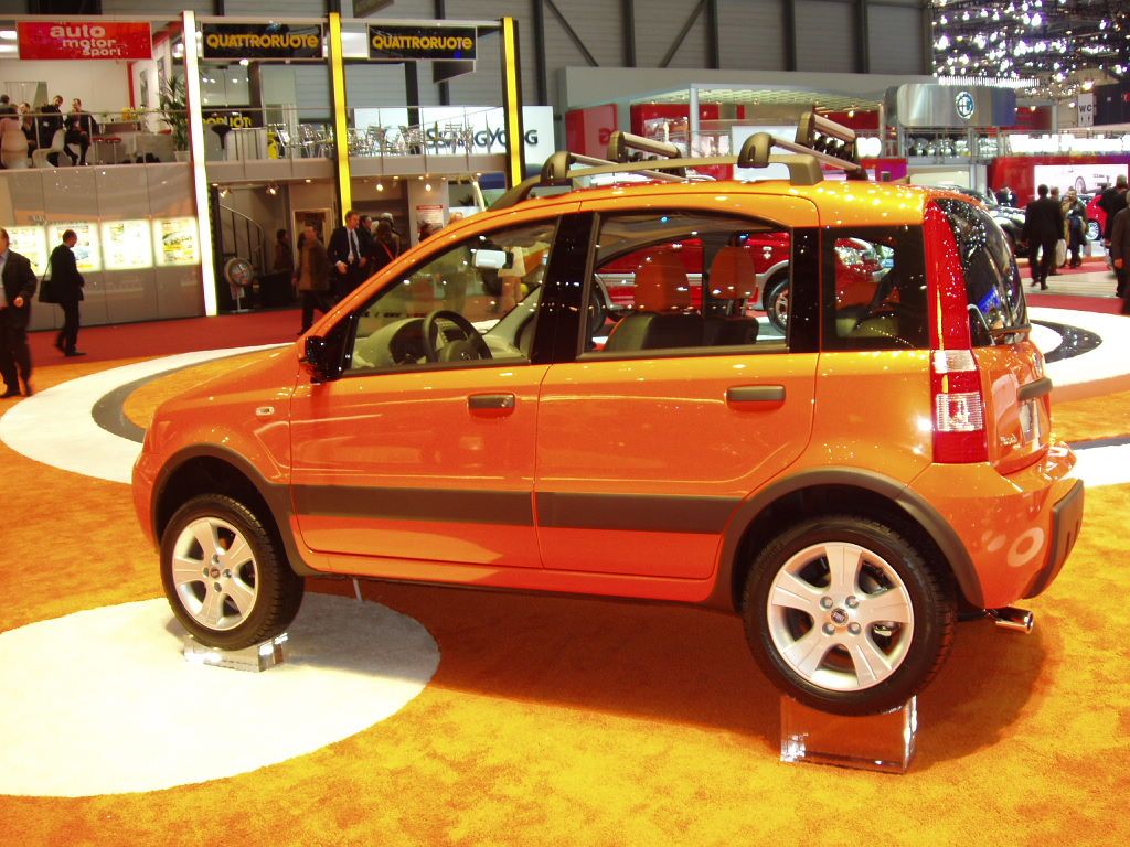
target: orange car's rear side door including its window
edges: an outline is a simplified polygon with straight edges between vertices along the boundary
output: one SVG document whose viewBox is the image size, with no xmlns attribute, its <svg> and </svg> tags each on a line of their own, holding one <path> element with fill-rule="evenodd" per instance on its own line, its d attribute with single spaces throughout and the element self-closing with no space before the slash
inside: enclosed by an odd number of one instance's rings
<svg viewBox="0 0 1130 847">
<path fill-rule="evenodd" d="M 575 360 L 550 366 L 539 400 L 534 483 L 542 562 L 706 579 L 733 510 L 796 461 L 809 438 L 816 321 L 805 308 L 815 309 L 817 296 L 816 209 L 799 198 L 715 194 L 683 195 L 661 211 L 624 209 L 623 200 L 582 204 L 597 215 L 586 291 L 608 267 L 635 274 L 635 290 L 650 286 L 644 277 L 654 274 L 645 265 L 688 239 L 697 264 L 686 267 L 689 253 L 667 262 L 669 305 L 650 300 L 646 308 L 659 311 L 649 313 L 635 304 L 619 318 L 669 328 L 636 332 L 590 309 Z M 732 259 L 732 248 L 753 238 L 790 230 L 793 302 L 801 308 L 786 339 L 754 311 L 755 263 L 715 260 L 725 248 Z M 626 256 L 640 259 L 634 269 Z M 680 286 L 687 289 L 675 290 Z M 612 335 L 636 347 L 608 343 Z M 732 343 L 737 338 L 745 340 Z"/>
</svg>

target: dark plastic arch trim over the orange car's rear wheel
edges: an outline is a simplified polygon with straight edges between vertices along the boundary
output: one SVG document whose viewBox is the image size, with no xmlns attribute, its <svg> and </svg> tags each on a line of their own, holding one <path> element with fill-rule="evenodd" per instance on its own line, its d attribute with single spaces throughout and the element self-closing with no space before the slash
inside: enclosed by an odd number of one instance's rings
<svg viewBox="0 0 1130 847">
<path fill-rule="evenodd" d="M 951 576 L 964 600 L 982 606 L 981 580 L 953 526 L 905 484 L 870 471 L 826 468 L 798 473 L 738 507 L 722 539 L 718 579 L 706 604 L 740 611 L 747 565 L 781 527 L 802 516 L 847 513 L 894 524 L 910 535 L 940 576 Z"/>
</svg>

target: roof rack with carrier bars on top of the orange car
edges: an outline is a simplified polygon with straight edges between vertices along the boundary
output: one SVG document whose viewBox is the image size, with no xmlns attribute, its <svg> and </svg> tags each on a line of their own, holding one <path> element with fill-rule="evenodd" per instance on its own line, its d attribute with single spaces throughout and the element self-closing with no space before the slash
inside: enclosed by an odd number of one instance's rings
<svg viewBox="0 0 1130 847">
<path fill-rule="evenodd" d="M 789 152 L 773 154 L 774 147 Z M 629 160 L 632 150 L 663 158 Z M 588 167 L 573 171 L 573 165 Z M 536 187 L 572 186 L 575 180 L 586 176 L 632 173 L 650 180 L 685 182 L 688 169 L 718 165 L 745 168 L 784 165 L 789 168 L 789 181 L 793 185 L 815 185 L 823 181 L 820 165 L 846 172 L 849 180 L 867 178 L 867 171 L 859 161 L 855 131 L 820 117 L 815 112 L 806 112 L 801 115 L 794 141 L 785 141 L 767 132 L 756 132 L 746 139 L 737 156 L 683 157 L 675 145 L 617 131 L 609 139 L 607 159 L 558 150 L 546 159 L 538 176 L 523 180 L 498 198 L 490 208 L 506 209 L 525 200 Z"/>
</svg>

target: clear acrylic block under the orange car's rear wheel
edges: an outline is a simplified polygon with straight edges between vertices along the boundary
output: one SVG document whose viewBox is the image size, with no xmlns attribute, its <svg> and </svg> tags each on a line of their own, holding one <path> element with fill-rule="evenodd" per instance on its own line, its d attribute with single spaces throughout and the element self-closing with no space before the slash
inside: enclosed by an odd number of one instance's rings
<svg viewBox="0 0 1130 847">
<path fill-rule="evenodd" d="M 861 717 L 831 715 L 781 697 L 781 761 L 905 774 L 916 734 L 916 697 Z"/>
</svg>

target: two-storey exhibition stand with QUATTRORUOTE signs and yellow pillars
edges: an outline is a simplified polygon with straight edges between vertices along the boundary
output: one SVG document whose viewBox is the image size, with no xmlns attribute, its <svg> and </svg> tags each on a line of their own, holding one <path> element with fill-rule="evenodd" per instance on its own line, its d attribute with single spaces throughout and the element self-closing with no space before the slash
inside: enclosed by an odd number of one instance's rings
<svg viewBox="0 0 1130 847">
<path fill-rule="evenodd" d="M 523 110 L 514 86 L 501 107 L 405 105 L 418 102 L 417 66 L 436 80 L 470 73 L 480 49 L 506 63 L 504 29 L 192 12 L 0 21 L 0 90 L 27 104 L 28 126 L 9 133 L 24 147 L 5 141 L 0 218 L 36 276 L 59 234 L 78 233 L 86 324 L 282 305 L 276 230 L 314 220 L 328 236 L 356 207 L 391 212 L 415 243 L 420 222 L 481 208 L 477 191 L 464 202 L 469 183 L 520 178 L 525 156 L 553 151 L 551 110 Z M 55 132 L 79 111 L 95 122 L 81 146 Z M 234 259 L 253 278 L 225 274 Z M 60 320 L 36 309 L 32 329 Z"/>
</svg>

